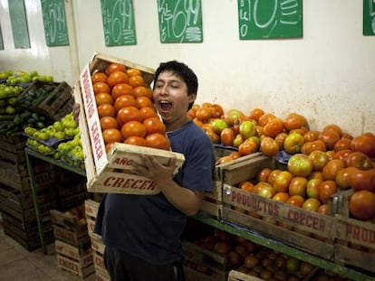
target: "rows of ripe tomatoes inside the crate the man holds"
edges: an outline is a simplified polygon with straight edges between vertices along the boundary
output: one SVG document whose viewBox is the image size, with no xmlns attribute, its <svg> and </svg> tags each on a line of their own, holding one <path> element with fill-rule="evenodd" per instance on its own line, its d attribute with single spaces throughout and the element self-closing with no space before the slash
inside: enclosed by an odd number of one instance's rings
<svg viewBox="0 0 375 281">
<path fill-rule="evenodd" d="M 152 89 L 138 69 L 112 62 L 105 70 L 93 72 L 91 81 L 107 151 L 119 142 L 170 149 Z"/>
</svg>

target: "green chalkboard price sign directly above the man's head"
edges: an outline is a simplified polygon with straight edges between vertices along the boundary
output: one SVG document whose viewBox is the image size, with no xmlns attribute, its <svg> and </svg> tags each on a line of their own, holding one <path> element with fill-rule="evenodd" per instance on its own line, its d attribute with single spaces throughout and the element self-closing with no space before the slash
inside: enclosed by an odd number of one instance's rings
<svg viewBox="0 0 375 281">
<path fill-rule="evenodd" d="M 203 42 L 200 0 L 158 0 L 160 42 Z"/>
</svg>

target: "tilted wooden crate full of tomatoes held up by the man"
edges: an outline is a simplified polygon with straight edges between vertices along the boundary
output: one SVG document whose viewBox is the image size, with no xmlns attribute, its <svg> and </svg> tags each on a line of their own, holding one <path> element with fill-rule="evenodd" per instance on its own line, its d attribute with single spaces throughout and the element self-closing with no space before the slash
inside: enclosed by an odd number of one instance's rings
<svg viewBox="0 0 375 281">
<path fill-rule="evenodd" d="M 150 195 L 156 183 L 131 173 L 140 155 L 161 163 L 184 155 L 170 151 L 165 126 L 152 103 L 154 70 L 137 63 L 95 53 L 84 67 L 73 95 L 81 105 L 79 126 L 89 192 Z"/>
</svg>

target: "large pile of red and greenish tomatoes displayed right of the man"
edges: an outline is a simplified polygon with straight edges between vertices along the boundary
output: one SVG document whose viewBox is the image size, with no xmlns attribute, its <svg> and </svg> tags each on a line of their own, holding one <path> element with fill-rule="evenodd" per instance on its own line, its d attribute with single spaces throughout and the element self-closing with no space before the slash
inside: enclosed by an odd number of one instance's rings
<svg viewBox="0 0 375 281">
<path fill-rule="evenodd" d="M 327 213 L 332 194 L 351 188 L 351 217 L 375 219 L 374 134 L 351 136 L 336 124 L 312 130 L 298 113 L 276 117 L 255 108 L 246 115 L 237 109 L 224 112 L 220 105 L 208 102 L 195 105 L 188 116 L 213 143 L 237 148 L 217 164 L 255 152 L 290 155 L 285 171 L 261 171 L 256 183 L 246 181 L 240 188 L 321 213 Z"/>
</svg>

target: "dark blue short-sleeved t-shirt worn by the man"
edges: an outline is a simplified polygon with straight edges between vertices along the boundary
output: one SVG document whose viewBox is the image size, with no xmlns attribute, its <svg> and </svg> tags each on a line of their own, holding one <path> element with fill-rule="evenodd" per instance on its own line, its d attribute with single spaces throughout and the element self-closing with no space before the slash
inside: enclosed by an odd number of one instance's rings
<svg viewBox="0 0 375 281">
<path fill-rule="evenodd" d="M 212 191 L 215 155 L 206 133 L 190 121 L 168 132 L 168 138 L 172 151 L 185 155 L 174 181 L 190 190 Z M 186 223 L 186 215 L 172 206 L 162 192 L 108 193 L 101 201 L 94 231 L 101 234 L 105 245 L 153 264 L 166 264 L 182 257 L 180 238 Z"/>
</svg>

